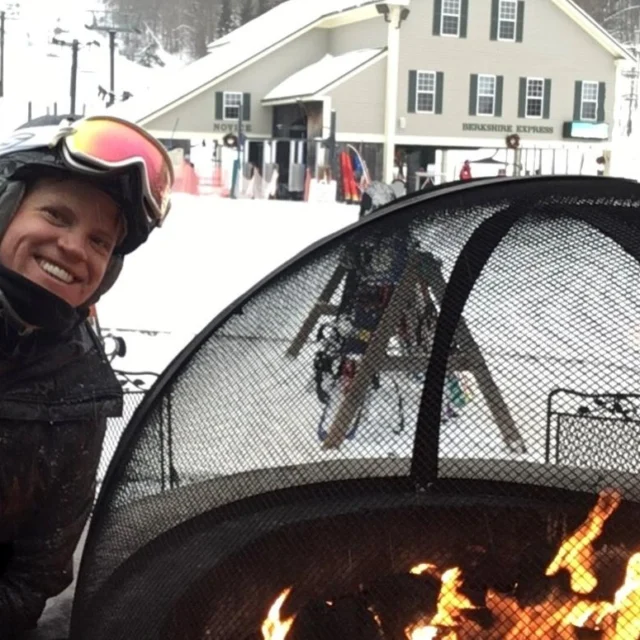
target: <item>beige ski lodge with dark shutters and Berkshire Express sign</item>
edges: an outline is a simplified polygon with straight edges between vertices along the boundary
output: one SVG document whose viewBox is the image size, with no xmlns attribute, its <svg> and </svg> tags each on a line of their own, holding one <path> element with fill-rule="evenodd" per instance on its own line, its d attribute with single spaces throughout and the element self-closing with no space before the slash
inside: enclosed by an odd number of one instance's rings
<svg viewBox="0 0 640 640">
<path fill-rule="evenodd" d="M 521 167 L 559 173 L 571 150 L 626 135 L 634 69 L 572 0 L 289 0 L 112 109 L 165 142 L 241 126 L 245 159 L 283 174 L 317 174 L 335 139 L 374 178 L 453 179 L 471 150 L 497 171 L 513 135 Z"/>
</svg>

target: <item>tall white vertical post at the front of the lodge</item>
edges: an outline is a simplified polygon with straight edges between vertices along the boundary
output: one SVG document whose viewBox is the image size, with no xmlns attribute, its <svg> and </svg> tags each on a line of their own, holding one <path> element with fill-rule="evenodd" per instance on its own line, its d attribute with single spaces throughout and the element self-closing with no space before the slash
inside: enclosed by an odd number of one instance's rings
<svg viewBox="0 0 640 640">
<path fill-rule="evenodd" d="M 387 86 L 384 118 L 383 180 L 393 180 L 396 122 L 398 120 L 398 70 L 400 65 L 400 7 L 389 7 L 387 25 Z"/>
</svg>

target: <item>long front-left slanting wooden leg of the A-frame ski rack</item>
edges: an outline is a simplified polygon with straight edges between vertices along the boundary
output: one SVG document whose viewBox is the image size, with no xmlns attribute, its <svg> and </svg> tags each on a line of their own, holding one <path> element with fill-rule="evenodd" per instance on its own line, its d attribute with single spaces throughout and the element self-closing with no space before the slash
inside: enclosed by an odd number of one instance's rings
<svg viewBox="0 0 640 640">
<path fill-rule="evenodd" d="M 417 256 L 413 254 L 389 300 L 389 304 L 380 318 L 378 327 L 371 337 L 371 342 L 362 356 L 349 392 L 346 394 L 338 408 L 333 423 L 329 427 L 327 438 L 324 441 L 325 448 L 335 449 L 340 447 L 349 432 L 349 426 L 364 402 L 371 379 L 376 371 L 380 369 L 381 363 L 385 361 L 387 345 L 402 317 L 404 302 L 413 293 L 413 286 L 418 278 L 418 268 Z"/>
</svg>

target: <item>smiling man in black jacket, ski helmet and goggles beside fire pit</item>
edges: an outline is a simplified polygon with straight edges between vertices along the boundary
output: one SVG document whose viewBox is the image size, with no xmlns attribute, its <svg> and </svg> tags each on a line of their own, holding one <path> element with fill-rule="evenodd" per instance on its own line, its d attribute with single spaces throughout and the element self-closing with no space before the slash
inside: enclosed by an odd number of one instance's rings
<svg viewBox="0 0 640 640">
<path fill-rule="evenodd" d="M 126 121 L 0 143 L 0 637 L 27 637 L 72 580 L 106 419 L 122 390 L 87 323 L 169 211 L 166 151 Z"/>
</svg>

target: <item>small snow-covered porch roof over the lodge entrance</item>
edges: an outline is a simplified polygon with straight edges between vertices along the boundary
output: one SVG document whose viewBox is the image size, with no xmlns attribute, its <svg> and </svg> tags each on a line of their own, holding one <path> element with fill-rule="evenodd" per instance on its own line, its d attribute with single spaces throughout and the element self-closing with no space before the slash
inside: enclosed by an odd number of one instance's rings
<svg viewBox="0 0 640 640">
<path fill-rule="evenodd" d="M 327 54 L 324 58 L 301 69 L 272 89 L 263 101 L 312 96 L 355 71 L 385 49 L 359 49 L 339 56 Z"/>
</svg>

